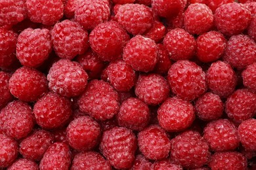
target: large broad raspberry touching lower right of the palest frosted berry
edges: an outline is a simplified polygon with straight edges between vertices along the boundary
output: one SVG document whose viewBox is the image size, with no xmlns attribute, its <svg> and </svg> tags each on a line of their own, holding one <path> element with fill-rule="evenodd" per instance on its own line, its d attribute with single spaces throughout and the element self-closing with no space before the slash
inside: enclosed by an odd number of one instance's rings
<svg viewBox="0 0 256 170">
<path fill-rule="evenodd" d="M 78 99 L 79 109 L 97 120 L 108 120 L 119 109 L 118 93 L 103 80 L 91 80 Z"/>
</svg>

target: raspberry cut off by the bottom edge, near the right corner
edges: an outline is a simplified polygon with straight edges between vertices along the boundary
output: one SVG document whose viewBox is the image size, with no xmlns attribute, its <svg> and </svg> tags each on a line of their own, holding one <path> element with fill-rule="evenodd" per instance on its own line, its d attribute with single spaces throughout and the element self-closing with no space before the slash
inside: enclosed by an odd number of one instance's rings
<svg viewBox="0 0 256 170">
<path fill-rule="evenodd" d="M 216 152 L 211 156 L 209 167 L 212 170 L 245 170 L 247 169 L 247 159 L 239 152 Z"/>
</svg>

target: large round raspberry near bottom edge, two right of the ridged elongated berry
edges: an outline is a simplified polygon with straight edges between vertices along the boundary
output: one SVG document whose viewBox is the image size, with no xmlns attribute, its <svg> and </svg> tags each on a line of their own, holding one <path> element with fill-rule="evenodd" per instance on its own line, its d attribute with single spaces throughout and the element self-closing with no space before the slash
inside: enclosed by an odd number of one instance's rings
<svg viewBox="0 0 256 170">
<path fill-rule="evenodd" d="M 171 159 L 184 168 L 202 167 L 209 154 L 207 142 L 197 131 L 185 131 L 171 140 Z"/>
</svg>

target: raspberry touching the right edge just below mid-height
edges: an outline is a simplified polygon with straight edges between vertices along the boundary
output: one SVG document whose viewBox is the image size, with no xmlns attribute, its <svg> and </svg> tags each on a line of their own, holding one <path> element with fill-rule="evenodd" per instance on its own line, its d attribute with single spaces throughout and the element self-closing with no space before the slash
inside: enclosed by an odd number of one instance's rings
<svg viewBox="0 0 256 170">
<path fill-rule="evenodd" d="M 247 89 L 236 90 L 226 99 L 226 114 L 241 123 L 256 114 L 256 94 Z"/>
</svg>

